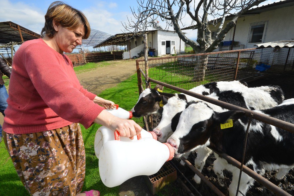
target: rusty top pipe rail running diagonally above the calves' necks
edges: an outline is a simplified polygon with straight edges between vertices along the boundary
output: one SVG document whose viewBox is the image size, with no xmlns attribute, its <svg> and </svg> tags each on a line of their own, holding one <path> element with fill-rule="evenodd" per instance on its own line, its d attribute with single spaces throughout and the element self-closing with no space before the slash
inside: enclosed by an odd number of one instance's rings
<svg viewBox="0 0 294 196">
<path fill-rule="evenodd" d="M 196 97 L 196 98 L 201 99 L 203 101 L 206 101 L 208 103 L 215 104 L 217 106 L 220 106 L 220 107 L 223 107 L 223 108 L 226 108 L 226 109 L 229 109 L 229 110 L 243 111 L 243 112 L 245 112 L 245 115 L 248 116 L 248 117 L 250 117 L 251 114 L 254 114 L 254 119 L 260 120 L 260 121 L 265 122 L 267 124 L 271 124 L 271 125 L 273 125 L 275 127 L 279 127 L 281 129 L 285 129 L 285 130 L 287 130 L 287 131 L 289 131 L 291 133 L 294 133 L 294 124 L 291 124 L 289 122 L 285 122 L 283 120 L 279 120 L 279 119 L 276 119 L 276 118 L 273 118 L 273 117 L 269 117 L 269 116 L 267 116 L 265 114 L 260 114 L 258 112 L 254 112 L 252 110 L 245 109 L 243 107 L 238 107 L 238 106 L 226 103 L 226 102 L 222 102 L 220 100 L 213 99 L 213 98 L 210 98 L 210 97 L 198 94 L 198 93 L 194 93 L 194 92 L 191 92 L 191 91 L 188 91 L 188 90 L 185 90 L 185 89 L 181 89 L 179 87 L 175 87 L 173 85 L 166 84 L 164 82 L 160 82 L 160 81 L 155 80 L 155 79 L 149 78 L 149 82 L 154 82 L 156 84 L 160 84 L 160 85 L 162 85 L 164 87 L 176 90 L 176 91 L 181 92 L 181 93 L 185 93 L 185 94 L 190 95 L 192 97 Z"/>
</svg>

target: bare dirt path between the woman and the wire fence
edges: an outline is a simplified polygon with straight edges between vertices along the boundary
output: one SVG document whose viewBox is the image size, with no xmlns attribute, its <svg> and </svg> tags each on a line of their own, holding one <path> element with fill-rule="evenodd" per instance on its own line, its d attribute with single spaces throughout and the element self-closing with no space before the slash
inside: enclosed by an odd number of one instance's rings
<svg viewBox="0 0 294 196">
<path fill-rule="evenodd" d="M 135 60 L 108 61 L 111 65 L 98 67 L 88 72 L 77 74 L 81 85 L 88 91 L 99 94 L 136 73 Z"/>
</svg>

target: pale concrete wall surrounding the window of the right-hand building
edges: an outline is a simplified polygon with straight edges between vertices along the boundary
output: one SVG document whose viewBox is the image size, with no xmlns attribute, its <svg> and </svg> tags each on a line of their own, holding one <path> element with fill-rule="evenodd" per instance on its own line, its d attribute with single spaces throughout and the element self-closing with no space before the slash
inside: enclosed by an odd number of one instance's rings
<svg viewBox="0 0 294 196">
<path fill-rule="evenodd" d="M 249 42 L 250 26 L 266 22 L 263 42 L 277 40 L 291 40 L 294 38 L 294 6 L 265 11 L 260 14 L 242 16 L 237 20 L 235 41 L 243 44 L 245 48 L 253 48 L 256 43 Z M 227 22 L 227 21 L 226 21 Z M 225 23 L 226 24 L 226 23 Z M 225 25 L 224 25 L 225 26 Z M 217 26 L 210 25 L 209 29 L 215 31 Z M 225 36 L 224 41 L 233 39 L 233 30 L 231 29 Z"/>
</svg>

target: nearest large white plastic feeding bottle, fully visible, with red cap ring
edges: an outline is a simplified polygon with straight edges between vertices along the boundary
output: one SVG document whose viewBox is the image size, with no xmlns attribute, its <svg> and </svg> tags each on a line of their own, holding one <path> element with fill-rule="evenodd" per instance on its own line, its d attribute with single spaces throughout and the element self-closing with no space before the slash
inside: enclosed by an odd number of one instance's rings
<svg viewBox="0 0 294 196">
<path fill-rule="evenodd" d="M 170 144 L 151 138 L 108 141 L 100 152 L 100 177 L 105 186 L 115 187 L 135 176 L 155 174 L 173 156 Z"/>
</svg>

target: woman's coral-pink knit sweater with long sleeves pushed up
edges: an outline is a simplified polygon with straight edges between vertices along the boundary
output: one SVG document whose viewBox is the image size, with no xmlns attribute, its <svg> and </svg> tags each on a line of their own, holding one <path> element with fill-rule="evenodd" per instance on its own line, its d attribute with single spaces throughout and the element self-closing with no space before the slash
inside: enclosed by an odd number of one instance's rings
<svg viewBox="0 0 294 196">
<path fill-rule="evenodd" d="M 88 128 L 104 109 L 83 89 L 66 55 L 42 39 L 21 44 L 12 64 L 3 130 L 25 134 L 81 123 Z"/>
</svg>

